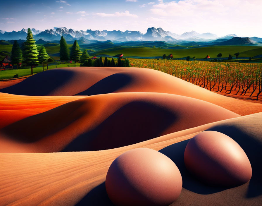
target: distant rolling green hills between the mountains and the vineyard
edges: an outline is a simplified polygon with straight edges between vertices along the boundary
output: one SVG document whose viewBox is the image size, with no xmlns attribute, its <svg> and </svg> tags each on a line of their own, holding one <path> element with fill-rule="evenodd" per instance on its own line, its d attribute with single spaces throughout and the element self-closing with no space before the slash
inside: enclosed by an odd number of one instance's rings
<svg viewBox="0 0 262 206">
<path fill-rule="evenodd" d="M 68 44 L 69 49 L 72 44 Z M 198 59 L 205 58 L 209 55 L 211 58 L 216 58 L 218 53 L 222 53 L 222 57 L 228 57 L 229 54 L 234 55 L 239 52 L 239 57 L 253 57 L 262 54 L 262 47 L 254 46 L 214 46 L 214 47 L 191 47 L 188 49 L 166 49 L 166 48 L 156 48 L 152 47 L 139 47 L 139 46 L 119 46 L 112 44 L 112 42 L 97 43 L 93 45 L 92 48 L 88 47 L 88 44 L 80 45 L 81 50 L 92 49 L 89 52 L 90 56 L 106 54 L 109 56 L 115 56 L 116 54 L 123 54 L 124 56 L 139 56 L 139 57 L 150 57 L 150 56 L 162 56 L 163 54 L 169 55 L 173 54 L 174 58 L 183 58 L 186 56 L 195 56 Z M 106 49 L 104 49 L 106 48 Z M 11 52 L 12 45 L 0 45 L 1 51 Z M 55 60 L 59 59 L 59 45 L 47 46 L 47 53 L 52 56 Z M 3 58 L 3 56 L 0 56 Z"/>
</svg>

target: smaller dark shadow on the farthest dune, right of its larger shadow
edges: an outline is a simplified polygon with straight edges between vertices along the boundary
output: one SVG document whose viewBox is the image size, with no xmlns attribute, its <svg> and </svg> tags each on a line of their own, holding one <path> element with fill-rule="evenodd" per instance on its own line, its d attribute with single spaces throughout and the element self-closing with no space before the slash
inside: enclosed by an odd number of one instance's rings
<svg viewBox="0 0 262 206">
<path fill-rule="evenodd" d="M 108 94 L 129 84 L 131 80 L 132 78 L 126 74 L 122 74 L 122 73 L 112 74 L 98 81 L 97 83 L 89 87 L 87 90 L 82 91 L 76 95 L 91 96 L 91 95 Z"/>
</svg>

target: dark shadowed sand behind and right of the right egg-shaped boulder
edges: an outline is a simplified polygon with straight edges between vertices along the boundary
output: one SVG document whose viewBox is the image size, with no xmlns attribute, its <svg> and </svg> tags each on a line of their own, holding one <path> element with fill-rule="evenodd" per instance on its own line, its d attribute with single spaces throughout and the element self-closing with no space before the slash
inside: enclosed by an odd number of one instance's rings
<svg viewBox="0 0 262 206">
<path fill-rule="evenodd" d="M 218 131 L 228 135 L 235 140 L 247 154 L 252 167 L 252 177 L 249 182 L 247 198 L 256 197 L 262 194 L 262 129 L 254 132 L 252 126 L 241 125 L 220 125 L 209 128 L 211 131 Z"/>
</svg>

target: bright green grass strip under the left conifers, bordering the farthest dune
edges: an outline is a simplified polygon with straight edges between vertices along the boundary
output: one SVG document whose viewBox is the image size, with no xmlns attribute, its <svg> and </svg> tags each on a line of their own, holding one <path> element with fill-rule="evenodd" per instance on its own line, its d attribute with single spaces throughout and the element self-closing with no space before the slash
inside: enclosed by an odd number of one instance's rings
<svg viewBox="0 0 262 206">
<path fill-rule="evenodd" d="M 53 68 L 60 68 L 60 67 L 74 67 L 74 66 L 79 66 L 80 63 L 66 63 L 66 64 L 58 64 L 58 65 L 52 65 L 48 66 L 48 69 L 53 69 Z M 44 67 L 44 70 L 46 70 L 46 66 Z M 33 74 L 39 73 L 43 71 L 42 65 L 39 65 L 38 67 L 33 68 Z M 10 69 L 10 70 L 5 70 L 5 71 L 0 71 L 0 79 L 12 79 L 15 74 L 18 74 L 18 77 L 23 77 L 23 76 L 28 76 L 31 75 L 31 68 L 26 68 L 26 69 Z"/>
</svg>

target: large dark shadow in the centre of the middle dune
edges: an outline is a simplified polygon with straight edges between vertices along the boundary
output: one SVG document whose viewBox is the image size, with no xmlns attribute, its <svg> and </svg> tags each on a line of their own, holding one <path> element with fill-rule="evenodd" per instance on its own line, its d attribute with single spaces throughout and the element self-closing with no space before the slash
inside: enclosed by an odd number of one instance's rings
<svg viewBox="0 0 262 206">
<path fill-rule="evenodd" d="M 79 135 L 63 152 L 107 150 L 153 139 L 163 135 L 177 118 L 160 105 L 133 101 L 115 111 L 94 130 Z"/>
</svg>

